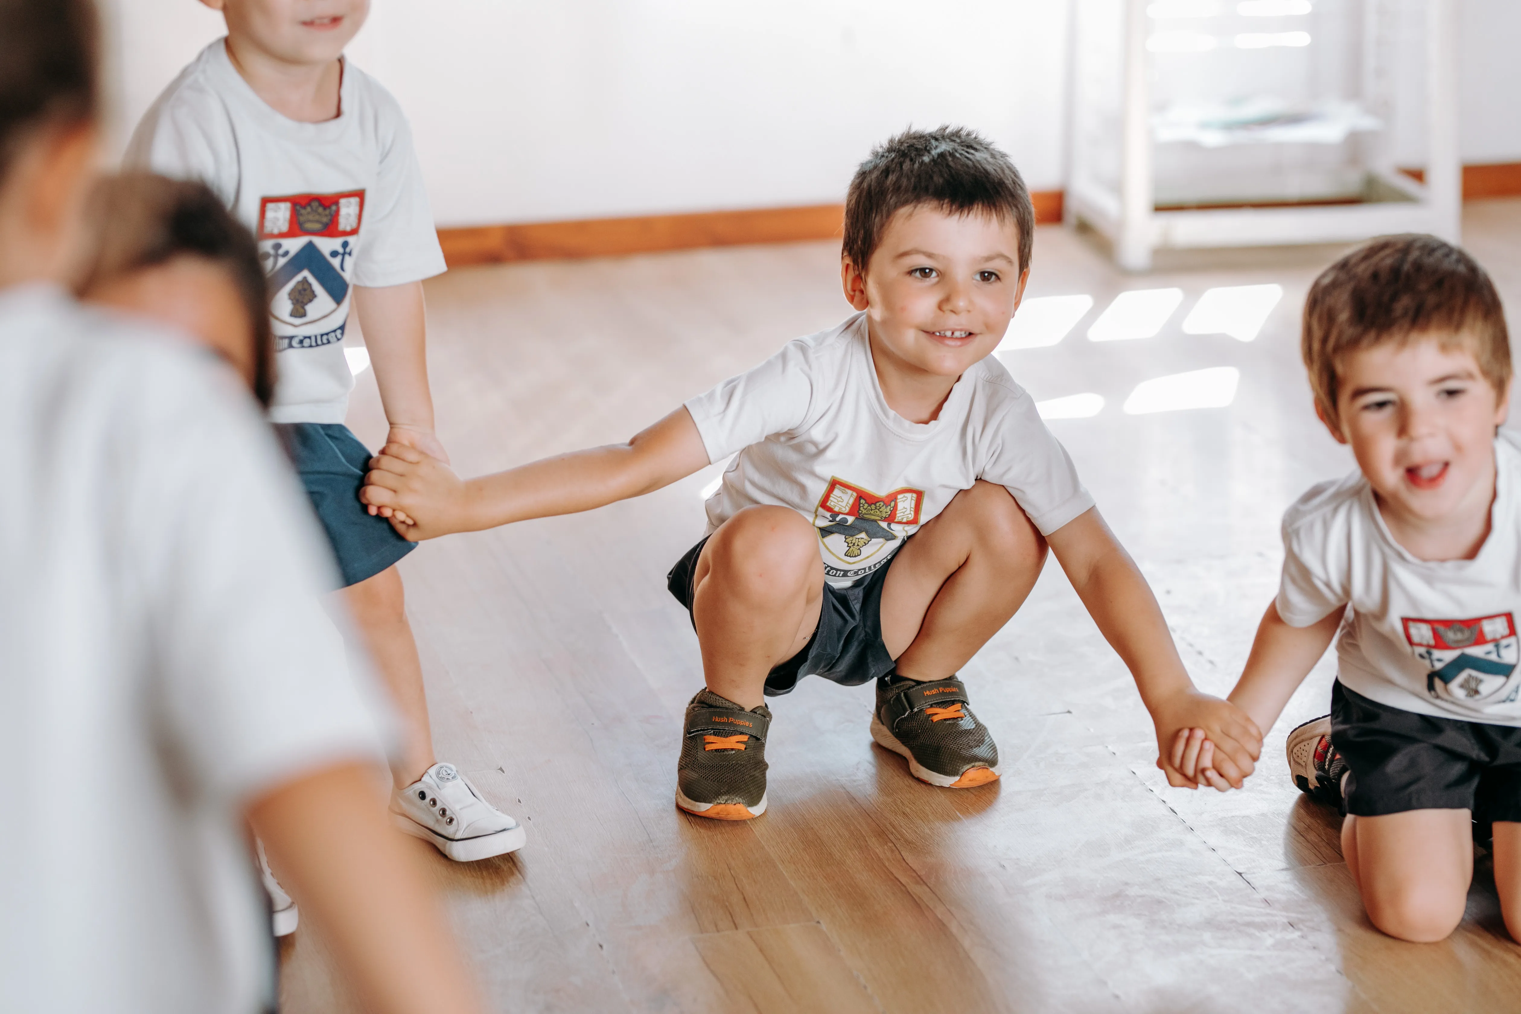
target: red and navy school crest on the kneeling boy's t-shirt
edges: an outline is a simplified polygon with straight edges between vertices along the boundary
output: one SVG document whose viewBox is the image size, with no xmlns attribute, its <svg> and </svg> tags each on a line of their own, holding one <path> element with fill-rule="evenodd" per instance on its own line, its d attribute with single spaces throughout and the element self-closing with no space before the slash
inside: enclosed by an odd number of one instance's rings
<svg viewBox="0 0 1521 1014">
<path fill-rule="evenodd" d="M 1471 620 L 1399 620 L 1410 651 L 1430 669 L 1427 693 L 1472 707 L 1516 696 L 1510 675 L 1521 661 L 1521 645 L 1510 613 Z"/>
</svg>

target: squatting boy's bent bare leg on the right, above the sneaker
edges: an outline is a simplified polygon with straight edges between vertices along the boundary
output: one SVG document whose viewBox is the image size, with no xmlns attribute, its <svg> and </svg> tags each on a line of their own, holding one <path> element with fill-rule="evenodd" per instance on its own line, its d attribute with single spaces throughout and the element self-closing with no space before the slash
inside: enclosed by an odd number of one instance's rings
<svg viewBox="0 0 1521 1014">
<path fill-rule="evenodd" d="M 887 572 L 882 643 L 897 673 L 958 672 L 1024 604 L 1045 556 L 1045 540 L 1008 490 L 980 480 L 958 493 Z"/>
</svg>

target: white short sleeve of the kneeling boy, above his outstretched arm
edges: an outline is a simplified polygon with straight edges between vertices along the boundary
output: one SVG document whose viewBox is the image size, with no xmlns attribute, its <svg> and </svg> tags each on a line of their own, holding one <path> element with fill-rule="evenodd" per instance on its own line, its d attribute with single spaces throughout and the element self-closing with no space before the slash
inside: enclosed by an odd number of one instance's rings
<svg viewBox="0 0 1521 1014">
<path fill-rule="evenodd" d="M 1319 623 L 1351 597 L 1349 505 L 1328 509 L 1325 503 L 1337 485 L 1314 486 L 1284 514 L 1284 575 L 1275 604 L 1290 626 Z"/>
</svg>

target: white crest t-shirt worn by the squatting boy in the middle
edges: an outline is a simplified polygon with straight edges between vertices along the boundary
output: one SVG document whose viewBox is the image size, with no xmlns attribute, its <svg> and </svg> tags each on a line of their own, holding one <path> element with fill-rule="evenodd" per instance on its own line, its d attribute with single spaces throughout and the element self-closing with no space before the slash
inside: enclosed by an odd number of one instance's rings
<svg viewBox="0 0 1521 1014">
<path fill-rule="evenodd" d="M 1007 486 L 1042 535 L 1094 506 L 1034 400 L 992 356 L 961 374 L 934 423 L 893 412 L 865 313 L 788 342 L 686 409 L 709 461 L 738 452 L 707 499 L 709 534 L 754 503 L 792 508 L 818 529 L 837 587 L 887 566 L 978 479 Z"/>
</svg>

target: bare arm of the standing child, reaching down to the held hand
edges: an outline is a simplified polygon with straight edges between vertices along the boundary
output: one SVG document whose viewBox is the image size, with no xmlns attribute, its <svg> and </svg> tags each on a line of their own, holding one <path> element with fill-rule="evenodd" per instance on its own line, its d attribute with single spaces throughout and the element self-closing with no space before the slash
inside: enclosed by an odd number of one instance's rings
<svg viewBox="0 0 1521 1014">
<path fill-rule="evenodd" d="M 380 404 L 391 423 L 388 444 L 406 444 L 449 461 L 433 435 L 433 395 L 427 389 L 427 315 L 423 283 L 354 286 L 354 310 L 376 371 Z"/>
</svg>

